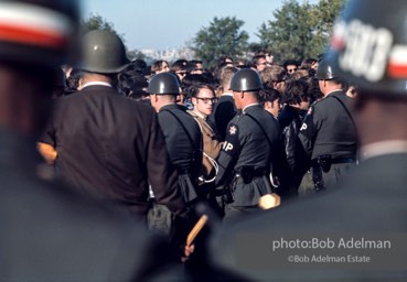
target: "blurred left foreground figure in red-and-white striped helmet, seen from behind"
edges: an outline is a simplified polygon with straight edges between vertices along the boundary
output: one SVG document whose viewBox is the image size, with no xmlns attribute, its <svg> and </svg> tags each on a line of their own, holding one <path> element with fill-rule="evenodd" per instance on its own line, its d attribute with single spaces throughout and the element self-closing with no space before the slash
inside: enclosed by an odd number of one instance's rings
<svg viewBox="0 0 407 282">
<path fill-rule="evenodd" d="M 77 1 L 0 1 L 0 280 L 137 281 L 152 241 L 118 208 L 54 178 L 35 149 Z M 142 276 L 144 278 L 144 276 Z"/>
</svg>

